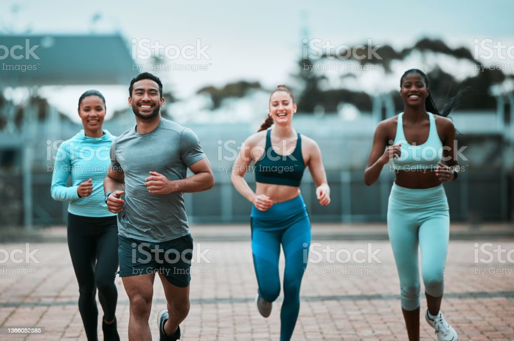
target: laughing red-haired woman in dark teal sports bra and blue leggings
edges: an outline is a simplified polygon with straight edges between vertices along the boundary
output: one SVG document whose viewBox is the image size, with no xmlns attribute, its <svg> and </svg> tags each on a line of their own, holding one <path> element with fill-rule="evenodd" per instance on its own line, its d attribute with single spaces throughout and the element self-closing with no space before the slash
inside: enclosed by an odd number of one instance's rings
<svg viewBox="0 0 514 341">
<path fill-rule="evenodd" d="M 303 171 L 309 168 L 320 205 L 330 203 L 321 152 L 317 143 L 292 128 L 295 98 L 279 85 L 269 98 L 269 115 L 256 134 L 244 142 L 232 170 L 232 183 L 253 204 L 251 243 L 259 285 L 255 298 L 264 317 L 280 294 L 280 245 L 284 250 L 284 302 L 280 340 L 291 339 L 300 310 L 300 284 L 307 266 L 310 221 L 300 194 Z M 268 129 L 274 123 L 272 129 Z M 251 161 L 254 166 L 250 168 Z M 243 176 L 255 172 L 255 192 Z"/>
</svg>

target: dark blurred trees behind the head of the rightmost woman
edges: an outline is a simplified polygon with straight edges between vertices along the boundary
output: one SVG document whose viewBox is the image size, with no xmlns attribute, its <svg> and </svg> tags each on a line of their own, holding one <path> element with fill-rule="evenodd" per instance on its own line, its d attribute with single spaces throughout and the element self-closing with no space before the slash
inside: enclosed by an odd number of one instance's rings
<svg viewBox="0 0 514 341">
<path fill-rule="evenodd" d="M 473 59 L 472 53 L 465 47 L 451 48 L 446 45 L 442 40 L 423 38 L 416 42 L 412 47 L 403 48 L 401 51 L 396 51 L 390 45 L 383 45 L 379 49 L 376 49 L 376 54 L 381 58 L 377 58 L 373 53 L 370 53 L 368 44 L 362 44 L 365 46 L 364 49 L 357 49 L 357 55 L 354 56 L 351 53 L 344 53 L 339 51 L 341 56 L 350 56 L 350 59 L 358 61 L 361 65 L 364 64 L 381 64 L 386 73 L 391 72 L 391 63 L 395 60 L 403 60 L 407 58 L 412 51 L 416 50 L 425 54 L 427 52 L 442 53 L 443 55 L 454 57 L 457 60 L 466 60 L 476 63 Z M 349 47 L 353 49 L 354 47 Z M 372 47 L 373 48 L 373 47 Z M 349 51 L 347 51 L 349 52 Z M 358 59 L 355 57 L 365 57 Z M 321 61 L 332 61 L 337 60 L 337 56 L 331 54 L 325 54 Z M 347 59 L 340 59 L 341 61 Z M 312 112 L 314 106 L 317 103 L 323 103 L 327 112 L 334 112 L 334 108 L 337 107 L 339 102 L 348 102 L 354 104 L 362 111 L 367 111 L 371 107 L 371 98 L 369 95 L 362 92 L 355 92 L 351 90 L 338 90 L 332 89 L 329 91 L 321 91 L 319 88 L 319 82 L 323 79 L 323 76 L 319 75 L 316 71 L 316 67 L 311 66 L 313 62 L 310 60 L 301 60 L 302 66 L 299 74 L 296 78 L 303 80 L 305 85 L 304 91 L 301 94 L 299 103 L 302 105 L 302 111 Z M 306 67 L 303 67 L 307 65 Z M 307 69 L 307 71 L 306 71 Z M 312 70 L 312 71 L 310 71 Z M 439 67 L 433 70 L 424 70 L 430 79 L 430 90 L 434 100 L 438 107 L 443 107 L 446 101 L 451 97 L 455 96 L 461 88 L 470 87 L 471 91 L 467 96 L 464 96 L 459 106 L 465 110 L 483 110 L 492 109 L 496 106 L 496 100 L 490 94 L 491 85 L 501 83 L 507 78 L 514 79 L 514 76 L 506 76 L 501 70 L 490 70 L 485 68 L 479 72 L 475 77 L 466 78 L 465 80 L 458 82 L 455 81 L 454 77 L 448 73 L 445 73 Z M 343 81 L 346 77 L 357 77 L 352 75 L 344 75 Z M 397 111 L 403 110 L 403 102 L 399 96 L 399 80 L 398 80 L 398 91 L 391 92 L 395 108 Z M 315 103 L 314 105 L 312 103 Z"/>
</svg>

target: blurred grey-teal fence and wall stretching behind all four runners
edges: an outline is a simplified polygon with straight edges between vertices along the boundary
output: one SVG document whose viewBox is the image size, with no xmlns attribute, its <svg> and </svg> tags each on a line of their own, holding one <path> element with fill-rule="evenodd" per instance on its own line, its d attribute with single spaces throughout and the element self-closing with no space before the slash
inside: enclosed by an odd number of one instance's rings
<svg viewBox="0 0 514 341">
<path fill-rule="evenodd" d="M 473 116 L 474 115 L 474 116 Z M 445 184 L 452 221 L 512 221 L 514 207 L 514 124 L 501 125 L 496 113 L 455 115 L 455 125 L 461 130 L 459 141 L 467 146 L 466 171 L 458 181 Z M 133 119 L 133 118 L 132 118 Z M 473 120 L 475 123 L 473 123 Z M 50 197 L 51 172 L 48 166 L 48 139 L 74 135 L 77 124 L 46 122 L 43 129 L 25 129 L 23 135 L 4 135 L 0 143 L 3 156 L 11 155 L 11 167 L 0 172 L 1 225 L 51 225 L 66 221 L 67 203 Z M 106 128 L 114 134 L 130 127 L 130 122 L 107 121 Z M 255 124 L 186 124 L 200 137 L 216 178 L 209 191 L 185 194 L 186 208 L 191 222 L 236 223 L 248 222 L 251 204 L 230 182 L 233 165 L 232 147 L 254 131 Z M 383 222 L 386 220 L 388 196 L 394 172 L 384 169 L 373 186 L 363 182 L 376 122 L 373 116 L 344 121 L 337 115 L 325 117 L 296 117 L 295 128 L 313 137 L 323 154 L 323 162 L 331 187 L 332 203 L 318 205 L 315 186 L 305 172 L 301 192 L 311 220 L 315 222 Z M 9 137 L 11 136 L 11 137 Z M 9 151 L 9 152 L 7 152 Z M 4 163 L 4 161 L 3 161 Z M 4 165 L 3 165 L 4 166 Z M 27 171 L 32 170 L 32 171 Z M 254 187 L 253 174 L 245 176 Z"/>
</svg>

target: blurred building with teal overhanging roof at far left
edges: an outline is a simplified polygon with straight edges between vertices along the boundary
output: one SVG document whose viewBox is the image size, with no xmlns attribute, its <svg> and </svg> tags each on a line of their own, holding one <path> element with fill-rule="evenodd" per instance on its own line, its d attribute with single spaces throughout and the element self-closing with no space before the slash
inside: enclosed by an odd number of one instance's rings
<svg viewBox="0 0 514 341">
<path fill-rule="evenodd" d="M 61 222 L 54 211 L 62 203 L 49 196 L 47 141 L 76 132 L 77 125 L 39 98 L 37 88 L 127 84 L 134 77 L 128 44 L 120 34 L 0 35 L 0 44 L 8 47 L 0 67 L 0 224 Z M 28 103 L 5 99 L 8 87 L 26 88 Z"/>
</svg>

